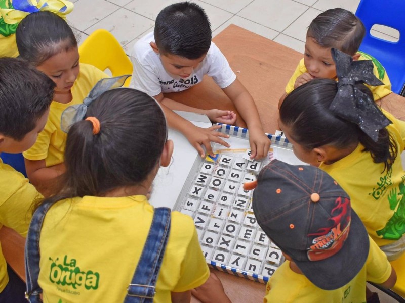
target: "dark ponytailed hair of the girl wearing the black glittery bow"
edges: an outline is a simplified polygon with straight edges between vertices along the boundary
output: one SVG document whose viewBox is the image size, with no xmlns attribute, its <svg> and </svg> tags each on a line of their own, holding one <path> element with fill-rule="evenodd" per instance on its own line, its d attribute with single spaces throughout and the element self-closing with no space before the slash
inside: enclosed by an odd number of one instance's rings
<svg viewBox="0 0 405 303">
<path fill-rule="evenodd" d="M 373 99 L 367 86 L 356 86 Z M 357 124 L 336 116 L 329 107 L 337 91 L 336 81 L 314 79 L 288 94 L 280 107 L 280 119 L 290 128 L 290 136 L 307 150 L 327 144 L 341 149 L 360 142 L 365 146 L 362 151 L 370 152 L 375 163 L 384 163 L 384 170 L 389 170 L 398 150 L 388 130 L 381 129 L 374 142 Z"/>
</svg>

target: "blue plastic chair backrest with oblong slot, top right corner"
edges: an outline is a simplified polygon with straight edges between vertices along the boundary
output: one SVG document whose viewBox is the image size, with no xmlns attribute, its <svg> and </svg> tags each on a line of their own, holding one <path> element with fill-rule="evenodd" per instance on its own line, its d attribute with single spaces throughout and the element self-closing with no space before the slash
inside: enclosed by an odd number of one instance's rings
<svg viewBox="0 0 405 303">
<path fill-rule="evenodd" d="M 363 51 L 375 57 L 384 66 L 390 78 L 392 91 L 400 93 L 405 84 L 405 1 L 361 0 L 356 16 L 366 27 L 366 36 L 360 45 Z M 399 31 L 399 40 L 391 42 L 371 35 L 375 24 Z"/>
</svg>

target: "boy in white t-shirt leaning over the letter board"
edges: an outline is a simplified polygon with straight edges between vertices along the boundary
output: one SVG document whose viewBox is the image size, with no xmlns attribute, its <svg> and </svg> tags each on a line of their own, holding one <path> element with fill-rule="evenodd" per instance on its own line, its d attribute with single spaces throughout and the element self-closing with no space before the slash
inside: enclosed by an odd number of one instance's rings
<svg viewBox="0 0 405 303">
<path fill-rule="evenodd" d="M 185 106 L 165 97 L 167 92 L 182 91 L 200 83 L 204 75 L 216 84 L 235 104 L 249 128 L 252 158 L 267 155 L 270 141 L 263 132 L 256 105 L 250 93 L 236 79 L 226 58 L 211 42 L 210 22 L 205 11 L 197 4 L 172 4 L 156 17 L 154 32 L 141 38 L 131 53 L 134 72 L 130 86 L 153 96 L 162 105 L 169 127 L 180 131 L 201 157 L 213 155 L 210 142 L 226 147 L 218 126 L 207 129 L 194 126 L 173 112 L 182 110 L 207 114 L 211 121 L 234 124 L 236 115 L 230 111 L 200 110 Z"/>
</svg>

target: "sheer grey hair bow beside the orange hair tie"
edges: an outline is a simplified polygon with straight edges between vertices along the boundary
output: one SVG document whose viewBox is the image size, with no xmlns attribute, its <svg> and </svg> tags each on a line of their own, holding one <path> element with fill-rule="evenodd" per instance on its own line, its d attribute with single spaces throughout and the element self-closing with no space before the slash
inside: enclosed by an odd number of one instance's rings
<svg viewBox="0 0 405 303">
<path fill-rule="evenodd" d="M 63 111 L 60 120 L 61 130 L 67 133 L 70 126 L 85 118 L 87 109 L 97 97 L 99 97 L 103 92 L 107 90 L 123 86 L 125 80 L 127 80 L 129 76 L 130 75 L 105 78 L 98 81 L 89 92 L 88 96 L 83 100 L 82 104 L 69 106 L 66 110 Z"/>
</svg>

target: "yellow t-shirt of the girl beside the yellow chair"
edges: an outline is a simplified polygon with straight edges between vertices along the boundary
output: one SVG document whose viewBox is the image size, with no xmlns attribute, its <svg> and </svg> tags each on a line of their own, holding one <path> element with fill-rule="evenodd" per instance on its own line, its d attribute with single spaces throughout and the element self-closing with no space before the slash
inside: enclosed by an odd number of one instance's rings
<svg viewBox="0 0 405 303">
<path fill-rule="evenodd" d="M 80 63 L 80 72 L 71 88 L 72 100 L 66 104 L 56 101 L 51 103 L 47 124 L 39 133 L 35 144 L 24 151 L 24 158 L 45 159 L 47 167 L 63 162 L 67 134 L 60 129 L 61 115 L 69 106 L 81 104 L 93 86 L 102 78 L 108 78 L 108 75 L 90 64 Z"/>
</svg>

